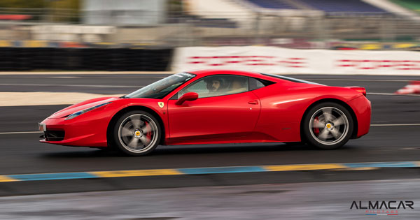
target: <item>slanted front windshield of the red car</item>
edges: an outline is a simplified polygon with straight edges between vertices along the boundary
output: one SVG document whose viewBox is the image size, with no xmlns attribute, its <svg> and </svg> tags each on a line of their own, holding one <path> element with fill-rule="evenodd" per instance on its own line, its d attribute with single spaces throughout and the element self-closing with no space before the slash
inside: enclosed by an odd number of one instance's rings
<svg viewBox="0 0 420 220">
<path fill-rule="evenodd" d="M 151 85 L 134 91 L 123 98 L 163 98 L 180 85 L 195 77 L 192 73 L 176 73 L 167 78 L 153 82 Z"/>
</svg>

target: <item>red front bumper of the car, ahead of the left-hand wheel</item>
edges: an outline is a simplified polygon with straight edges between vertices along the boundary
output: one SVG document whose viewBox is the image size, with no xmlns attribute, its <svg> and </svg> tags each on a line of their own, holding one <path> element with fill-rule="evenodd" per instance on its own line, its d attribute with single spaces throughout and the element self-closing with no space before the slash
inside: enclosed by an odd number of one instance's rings
<svg viewBox="0 0 420 220">
<path fill-rule="evenodd" d="M 66 146 L 106 147 L 106 127 L 104 119 L 75 122 L 73 119 L 47 118 L 39 124 L 40 130 L 46 129 L 44 139 L 39 142 Z"/>
</svg>

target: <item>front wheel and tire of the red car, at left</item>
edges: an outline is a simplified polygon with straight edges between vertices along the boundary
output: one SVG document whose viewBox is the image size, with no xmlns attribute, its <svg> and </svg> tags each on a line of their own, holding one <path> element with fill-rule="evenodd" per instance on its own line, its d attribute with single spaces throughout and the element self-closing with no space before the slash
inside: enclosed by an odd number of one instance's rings
<svg viewBox="0 0 420 220">
<path fill-rule="evenodd" d="M 158 120 L 149 112 L 126 112 L 116 121 L 111 134 L 113 146 L 131 156 L 150 154 L 158 147 L 162 129 Z"/>
</svg>

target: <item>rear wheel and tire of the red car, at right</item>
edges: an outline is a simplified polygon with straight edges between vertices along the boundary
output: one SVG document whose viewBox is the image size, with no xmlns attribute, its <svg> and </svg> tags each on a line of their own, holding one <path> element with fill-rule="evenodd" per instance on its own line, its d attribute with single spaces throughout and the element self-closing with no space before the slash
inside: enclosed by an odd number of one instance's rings
<svg viewBox="0 0 420 220">
<path fill-rule="evenodd" d="M 319 103 L 304 115 L 302 139 L 319 149 L 337 149 L 349 141 L 353 126 L 353 118 L 344 106 Z"/>
</svg>

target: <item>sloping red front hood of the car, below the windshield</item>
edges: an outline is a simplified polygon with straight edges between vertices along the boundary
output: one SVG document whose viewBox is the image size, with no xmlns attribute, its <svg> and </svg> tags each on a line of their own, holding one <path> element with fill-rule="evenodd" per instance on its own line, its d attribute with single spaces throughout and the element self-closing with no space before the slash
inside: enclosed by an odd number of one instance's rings
<svg viewBox="0 0 420 220">
<path fill-rule="evenodd" d="M 118 97 L 101 97 L 101 98 L 93 98 L 87 101 L 83 101 L 81 103 L 77 103 L 74 105 L 70 105 L 67 108 L 64 108 L 62 110 L 59 110 L 58 112 L 55 112 L 54 114 L 50 115 L 50 117 L 48 117 L 49 119 L 57 119 L 57 118 L 62 118 L 62 117 L 66 117 L 68 115 L 73 114 L 74 112 L 78 112 L 80 110 L 84 110 L 86 108 L 90 108 L 93 107 L 95 105 L 99 105 L 102 103 L 107 103 L 109 101 L 115 101 L 117 100 Z"/>
</svg>

